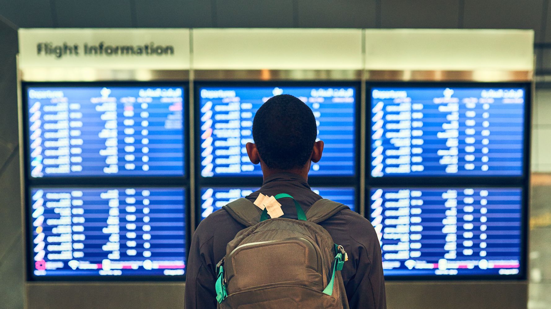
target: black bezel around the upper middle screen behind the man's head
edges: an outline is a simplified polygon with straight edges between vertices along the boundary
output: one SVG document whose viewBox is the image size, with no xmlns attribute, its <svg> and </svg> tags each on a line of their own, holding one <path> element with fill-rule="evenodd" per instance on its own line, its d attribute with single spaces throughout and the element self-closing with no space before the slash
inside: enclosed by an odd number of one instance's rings
<svg viewBox="0 0 551 309">
<path fill-rule="evenodd" d="M 195 145 L 201 145 L 200 132 L 201 132 L 201 112 L 199 111 L 199 102 L 201 101 L 200 92 L 202 87 L 350 87 L 354 88 L 354 117 L 355 117 L 355 142 L 356 147 L 354 149 L 354 174 L 350 176 L 309 176 L 309 184 L 311 186 L 318 185 L 330 185 L 339 184 L 339 186 L 356 186 L 360 179 L 360 90 L 361 83 L 357 81 L 203 81 L 196 82 L 194 85 L 194 101 L 195 101 Z M 199 170 L 201 164 L 201 149 L 196 147 L 195 149 L 195 164 L 196 170 Z M 262 175 L 247 175 L 247 176 L 212 176 L 203 177 L 201 173 L 196 171 L 196 183 L 199 186 L 204 185 L 224 185 L 235 184 L 240 185 L 262 185 Z M 258 187 L 260 187 L 258 185 Z M 356 190 L 359 188 L 356 188 Z"/>
</svg>

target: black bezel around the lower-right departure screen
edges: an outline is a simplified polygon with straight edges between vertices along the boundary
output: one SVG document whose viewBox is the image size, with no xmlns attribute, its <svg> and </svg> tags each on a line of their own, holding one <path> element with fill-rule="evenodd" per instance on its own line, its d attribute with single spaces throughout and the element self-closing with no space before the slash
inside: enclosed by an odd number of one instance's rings
<svg viewBox="0 0 551 309">
<path fill-rule="evenodd" d="M 461 186 L 461 185 L 447 185 L 447 186 L 427 186 L 427 185 L 382 185 L 382 186 L 366 186 L 365 188 L 365 216 L 371 220 L 370 212 L 370 196 L 372 189 L 464 189 L 465 187 L 473 189 L 520 189 L 521 190 L 521 233 L 520 233 L 520 267 L 518 274 L 514 275 L 385 275 L 385 280 L 387 281 L 423 281 L 423 280 L 446 280 L 446 281 L 466 281 L 466 280 L 499 280 L 499 281 L 511 281 L 511 280 L 526 280 L 526 269 L 527 269 L 527 228 L 528 228 L 528 189 L 522 186 L 512 186 L 512 185 L 472 185 L 472 186 Z"/>
</svg>

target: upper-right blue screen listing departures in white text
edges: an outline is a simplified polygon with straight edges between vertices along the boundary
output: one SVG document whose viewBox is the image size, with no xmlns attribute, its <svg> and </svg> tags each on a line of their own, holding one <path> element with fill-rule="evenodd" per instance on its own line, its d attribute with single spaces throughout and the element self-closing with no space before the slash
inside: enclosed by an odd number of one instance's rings
<svg viewBox="0 0 551 309">
<path fill-rule="evenodd" d="M 521 176 L 524 89 L 371 91 L 371 176 Z"/>
</svg>

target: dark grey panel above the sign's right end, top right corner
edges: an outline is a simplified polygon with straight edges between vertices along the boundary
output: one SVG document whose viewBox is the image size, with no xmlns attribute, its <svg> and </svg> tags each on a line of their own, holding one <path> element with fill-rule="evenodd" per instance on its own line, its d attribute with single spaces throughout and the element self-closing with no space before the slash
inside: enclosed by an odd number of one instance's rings
<svg viewBox="0 0 551 309">
<path fill-rule="evenodd" d="M 544 0 L 465 0 L 463 27 L 474 29 L 533 29 L 541 42 Z"/>
</svg>

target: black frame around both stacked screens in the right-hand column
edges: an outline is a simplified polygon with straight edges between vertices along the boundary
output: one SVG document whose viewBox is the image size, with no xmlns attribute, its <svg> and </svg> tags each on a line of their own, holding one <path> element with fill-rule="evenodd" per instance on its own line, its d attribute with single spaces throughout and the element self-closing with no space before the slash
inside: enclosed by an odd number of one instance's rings
<svg viewBox="0 0 551 309">
<path fill-rule="evenodd" d="M 528 249 L 528 201 L 530 196 L 530 141 L 531 141 L 531 102 L 532 84 L 530 82 L 367 82 L 366 115 L 371 114 L 371 90 L 377 87 L 493 87 L 493 88 L 522 88 L 525 90 L 525 114 L 523 136 L 523 158 L 521 176 L 371 176 L 371 134 L 365 135 L 365 217 L 370 218 L 370 191 L 371 188 L 415 188 L 445 189 L 447 187 L 479 187 L 479 188 L 520 188 L 521 201 L 521 256 L 520 271 L 516 275 L 422 275 L 422 276 L 385 276 L 386 280 L 526 280 L 527 278 L 527 249 Z M 369 125 L 370 117 L 366 118 Z M 367 126 L 369 128 L 369 126 Z"/>
</svg>

